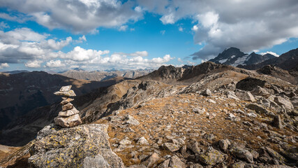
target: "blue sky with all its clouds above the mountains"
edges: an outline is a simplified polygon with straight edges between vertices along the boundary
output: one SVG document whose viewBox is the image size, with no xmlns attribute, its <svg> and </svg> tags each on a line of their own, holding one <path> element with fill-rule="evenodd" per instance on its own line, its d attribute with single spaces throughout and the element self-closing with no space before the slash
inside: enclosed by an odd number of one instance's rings
<svg viewBox="0 0 298 168">
<path fill-rule="evenodd" d="M 156 69 L 228 47 L 281 55 L 298 46 L 297 10 L 295 0 L 3 0 L 0 71 Z"/>
</svg>

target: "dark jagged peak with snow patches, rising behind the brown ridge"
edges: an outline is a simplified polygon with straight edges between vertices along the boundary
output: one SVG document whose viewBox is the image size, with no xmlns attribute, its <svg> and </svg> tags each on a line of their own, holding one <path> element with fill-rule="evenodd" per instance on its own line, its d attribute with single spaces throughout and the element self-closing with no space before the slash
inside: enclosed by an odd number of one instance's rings
<svg viewBox="0 0 298 168">
<path fill-rule="evenodd" d="M 228 64 L 232 66 L 239 66 L 239 65 L 251 65 L 251 64 L 258 64 L 260 62 L 264 62 L 268 59 L 274 58 L 274 55 L 266 54 L 266 55 L 259 55 L 255 52 L 251 54 L 245 54 L 241 52 L 239 48 L 226 48 L 218 54 L 217 57 L 214 59 L 210 59 L 209 62 L 214 62 L 216 64 Z"/>
</svg>

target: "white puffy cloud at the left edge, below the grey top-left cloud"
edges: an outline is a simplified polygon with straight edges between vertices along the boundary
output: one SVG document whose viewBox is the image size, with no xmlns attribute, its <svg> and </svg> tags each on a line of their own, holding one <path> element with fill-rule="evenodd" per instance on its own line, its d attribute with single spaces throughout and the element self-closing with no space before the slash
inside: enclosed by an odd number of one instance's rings
<svg viewBox="0 0 298 168">
<path fill-rule="evenodd" d="M 50 34 L 39 34 L 28 28 L 17 28 L 10 31 L 0 31 L 0 62 L 20 63 L 27 61 L 25 66 L 38 67 L 34 60 L 57 57 L 58 52 L 72 40 L 47 39 Z M 31 61 L 31 62 L 28 62 Z"/>
</svg>

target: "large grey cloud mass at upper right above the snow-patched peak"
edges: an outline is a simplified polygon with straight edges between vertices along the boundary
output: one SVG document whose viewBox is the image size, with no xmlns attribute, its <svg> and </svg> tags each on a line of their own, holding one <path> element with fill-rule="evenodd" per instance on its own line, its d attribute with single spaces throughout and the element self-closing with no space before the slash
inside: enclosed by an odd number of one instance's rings
<svg viewBox="0 0 298 168">
<path fill-rule="evenodd" d="M 202 45 L 202 49 L 193 54 L 193 59 L 210 59 L 230 46 L 251 52 L 298 38 L 298 3 L 295 0 L 137 2 L 150 12 L 162 15 L 163 24 L 193 19 L 193 39 Z"/>
</svg>

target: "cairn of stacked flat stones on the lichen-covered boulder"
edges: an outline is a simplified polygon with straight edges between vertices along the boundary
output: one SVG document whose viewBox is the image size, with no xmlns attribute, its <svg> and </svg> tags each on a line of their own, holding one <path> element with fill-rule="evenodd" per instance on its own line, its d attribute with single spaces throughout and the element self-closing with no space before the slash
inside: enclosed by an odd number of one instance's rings
<svg viewBox="0 0 298 168">
<path fill-rule="evenodd" d="M 56 95 L 62 95 L 62 111 L 59 112 L 57 118 L 54 118 L 54 122 L 56 125 L 60 125 L 61 127 L 75 127 L 77 125 L 82 124 L 82 120 L 79 116 L 80 111 L 75 109 L 73 104 L 70 102 L 73 101 L 70 97 L 75 97 L 75 92 L 70 90 L 71 85 L 62 86 L 58 92 L 54 92 Z"/>
</svg>

